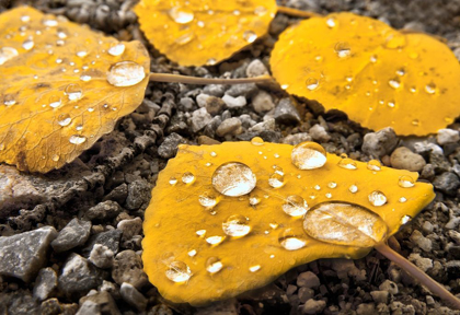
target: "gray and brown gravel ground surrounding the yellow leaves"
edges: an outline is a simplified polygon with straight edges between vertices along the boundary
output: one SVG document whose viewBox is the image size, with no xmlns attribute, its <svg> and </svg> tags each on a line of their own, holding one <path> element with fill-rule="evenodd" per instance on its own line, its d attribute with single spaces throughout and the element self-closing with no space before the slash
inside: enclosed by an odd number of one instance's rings
<svg viewBox="0 0 460 315">
<path fill-rule="evenodd" d="M 0 0 L 0 11 L 20 2 Z M 28 2 L 120 39 L 142 39 L 130 11 L 134 1 Z M 460 57 L 459 0 L 283 4 L 323 14 L 352 11 L 440 35 Z M 278 14 L 266 37 L 215 67 L 179 67 L 146 44 L 151 70 L 231 78 L 266 73 L 277 36 L 295 22 Z M 392 129 L 372 132 L 343 113 L 324 113 L 318 104 L 287 96 L 255 84 L 151 83 L 135 113 L 62 170 L 37 176 L 0 165 L 5 174 L 0 178 L 0 236 L 5 236 L 0 237 L 0 314 L 460 314 L 377 252 L 359 260 L 313 261 L 266 288 L 199 310 L 169 304 L 148 282 L 140 260 L 143 212 L 176 145 L 258 136 L 290 144 L 314 140 L 332 153 L 379 158 L 384 165 L 419 172 L 437 197 L 392 246 L 460 295 L 460 125 L 426 138 L 401 138 Z"/>
</svg>

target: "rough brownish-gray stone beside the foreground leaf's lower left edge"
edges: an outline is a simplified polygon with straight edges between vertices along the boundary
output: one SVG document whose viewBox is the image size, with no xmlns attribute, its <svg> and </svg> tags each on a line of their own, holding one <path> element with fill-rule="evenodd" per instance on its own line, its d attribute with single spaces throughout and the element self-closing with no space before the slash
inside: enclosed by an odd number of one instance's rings
<svg viewBox="0 0 460 315">
<path fill-rule="evenodd" d="M 128 282 L 139 290 L 148 283 L 147 275 L 142 269 L 142 260 L 130 249 L 123 250 L 115 256 L 112 278 L 119 285 L 123 282 Z"/>
</svg>

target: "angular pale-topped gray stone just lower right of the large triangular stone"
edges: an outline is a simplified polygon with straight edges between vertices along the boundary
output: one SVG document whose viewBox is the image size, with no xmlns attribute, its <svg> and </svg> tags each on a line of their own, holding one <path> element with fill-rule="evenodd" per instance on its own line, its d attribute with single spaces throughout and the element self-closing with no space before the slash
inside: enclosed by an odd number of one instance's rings
<svg viewBox="0 0 460 315">
<path fill-rule="evenodd" d="M 59 290 L 69 299 L 85 295 L 102 283 L 102 277 L 88 260 L 78 254 L 70 254 L 58 278 Z"/>
</svg>

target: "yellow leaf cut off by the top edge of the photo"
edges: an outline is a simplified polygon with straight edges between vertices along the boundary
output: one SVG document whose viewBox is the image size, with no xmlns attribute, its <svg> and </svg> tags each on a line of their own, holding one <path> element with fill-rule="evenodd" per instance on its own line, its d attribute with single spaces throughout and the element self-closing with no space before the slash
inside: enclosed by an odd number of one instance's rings
<svg viewBox="0 0 460 315">
<path fill-rule="evenodd" d="M 141 0 L 140 28 L 169 59 L 183 66 L 215 65 L 265 35 L 274 0 Z"/>
</svg>

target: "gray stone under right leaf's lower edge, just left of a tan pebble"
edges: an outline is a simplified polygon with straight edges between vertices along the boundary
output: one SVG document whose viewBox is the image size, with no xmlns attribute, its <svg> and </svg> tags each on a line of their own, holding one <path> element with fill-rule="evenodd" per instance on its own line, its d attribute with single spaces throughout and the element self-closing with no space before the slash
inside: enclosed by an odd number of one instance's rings
<svg viewBox="0 0 460 315">
<path fill-rule="evenodd" d="M 390 154 L 396 148 L 399 139 L 393 128 L 387 127 L 364 136 L 363 152 L 375 159 L 380 159 Z"/>
</svg>

